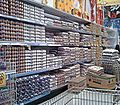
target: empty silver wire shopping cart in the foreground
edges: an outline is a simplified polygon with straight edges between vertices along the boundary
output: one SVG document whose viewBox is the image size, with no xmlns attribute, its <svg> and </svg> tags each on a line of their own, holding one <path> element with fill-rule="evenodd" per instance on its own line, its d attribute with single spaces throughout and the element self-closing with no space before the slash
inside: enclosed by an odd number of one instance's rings
<svg viewBox="0 0 120 105">
<path fill-rule="evenodd" d="M 120 105 L 120 91 L 87 88 L 72 93 L 68 90 L 39 105 Z"/>
</svg>

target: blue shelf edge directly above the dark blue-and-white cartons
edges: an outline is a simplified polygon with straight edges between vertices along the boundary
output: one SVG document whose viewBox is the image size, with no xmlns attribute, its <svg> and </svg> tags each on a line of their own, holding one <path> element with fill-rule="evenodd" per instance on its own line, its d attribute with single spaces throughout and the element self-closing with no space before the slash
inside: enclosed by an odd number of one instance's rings
<svg viewBox="0 0 120 105">
<path fill-rule="evenodd" d="M 25 73 L 19 73 L 19 74 L 16 74 L 16 78 L 31 76 L 31 75 L 35 75 L 35 74 L 42 74 L 42 73 L 46 73 L 48 71 L 52 71 L 52 70 L 56 70 L 56 69 L 60 69 L 60 68 L 62 68 L 62 66 L 44 68 L 44 69 L 35 70 L 35 71 L 28 71 L 28 72 L 25 72 Z"/>
</svg>

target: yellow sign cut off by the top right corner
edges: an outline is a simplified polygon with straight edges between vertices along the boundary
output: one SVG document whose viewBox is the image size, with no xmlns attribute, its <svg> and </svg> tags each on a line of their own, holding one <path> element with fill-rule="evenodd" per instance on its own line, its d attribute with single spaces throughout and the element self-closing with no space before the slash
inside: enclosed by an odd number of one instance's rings
<svg viewBox="0 0 120 105">
<path fill-rule="evenodd" d="M 104 6 L 120 5 L 120 0 L 97 0 L 97 4 Z"/>
</svg>

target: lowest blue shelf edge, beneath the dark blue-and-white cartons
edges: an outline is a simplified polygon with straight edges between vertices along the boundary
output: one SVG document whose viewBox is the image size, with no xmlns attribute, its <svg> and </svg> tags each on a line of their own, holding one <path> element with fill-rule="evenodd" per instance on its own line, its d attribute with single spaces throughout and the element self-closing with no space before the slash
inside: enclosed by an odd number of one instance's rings
<svg viewBox="0 0 120 105">
<path fill-rule="evenodd" d="M 43 97 L 45 97 L 45 96 L 47 96 L 47 95 L 49 95 L 49 94 L 50 94 L 50 92 L 48 92 L 48 91 L 43 92 L 41 95 L 38 95 L 38 96 L 36 96 L 36 97 L 34 97 L 34 98 L 31 98 L 31 99 L 29 99 L 28 101 L 23 102 L 23 104 L 21 103 L 21 104 L 19 104 L 19 105 L 30 104 L 31 102 L 36 101 L 36 100 L 38 100 L 38 99 L 40 99 L 40 98 L 43 98 Z"/>
</svg>

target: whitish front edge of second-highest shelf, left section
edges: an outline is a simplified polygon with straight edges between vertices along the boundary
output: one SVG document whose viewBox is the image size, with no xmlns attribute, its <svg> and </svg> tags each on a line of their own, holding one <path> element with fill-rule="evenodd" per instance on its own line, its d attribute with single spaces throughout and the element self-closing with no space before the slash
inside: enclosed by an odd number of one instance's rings
<svg viewBox="0 0 120 105">
<path fill-rule="evenodd" d="M 10 20 L 21 21 L 21 22 L 25 22 L 25 23 L 30 23 L 30 24 L 36 24 L 36 25 L 44 26 L 43 23 L 40 23 L 38 21 L 22 19 L 22 18 L 18 18 L 18 17 L 14 17 L 14 16 L 7 16 L 7 15 L 0 14 L 0 18 L 6 18 L 6 19 L 10 19 Z"/>
</svg>

